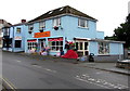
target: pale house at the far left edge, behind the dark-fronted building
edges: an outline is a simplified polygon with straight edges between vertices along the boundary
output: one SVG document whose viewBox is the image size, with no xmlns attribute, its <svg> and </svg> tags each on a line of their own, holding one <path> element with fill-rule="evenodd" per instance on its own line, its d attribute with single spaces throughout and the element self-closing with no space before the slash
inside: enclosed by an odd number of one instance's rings
<svg viewBox="0 0 130 91">
<path fill-rule="evenodd" d="M 8 26 L 10 26 L 10 25 L 11 25 L 11 24 L 8 23 L 6 21 L 0 20 L 0 48 L 2 48 L 2 37 L 3 37 L 2 28 L 3 28 L 3 27 L 8 27 Z"/>
</svg>

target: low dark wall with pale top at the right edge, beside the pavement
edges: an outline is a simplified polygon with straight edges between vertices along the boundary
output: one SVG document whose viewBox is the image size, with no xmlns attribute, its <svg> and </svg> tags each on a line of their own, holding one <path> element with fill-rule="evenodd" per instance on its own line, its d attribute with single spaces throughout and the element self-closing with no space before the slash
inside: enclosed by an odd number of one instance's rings
<svg viewBox="0 0 130 91">
<path fill-rule="evenodd" d="M 130 60 L 118 61 L 116 67 L 130 69 Z"/>
</svg>

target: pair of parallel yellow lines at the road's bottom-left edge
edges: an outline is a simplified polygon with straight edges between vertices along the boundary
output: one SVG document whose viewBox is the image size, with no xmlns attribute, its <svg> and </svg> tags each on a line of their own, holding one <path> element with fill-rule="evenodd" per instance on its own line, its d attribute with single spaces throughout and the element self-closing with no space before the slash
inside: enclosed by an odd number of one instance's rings
<svg viewBox="0 0 130 91">
<path fill-rule="evenodd" d="M 14 87 L 14 84 L 3 77 L 2 77 L 2 84 L 5 89 L 11 89 L 13 91 L 16 91 L 16 88 Z"/>
</svg>

